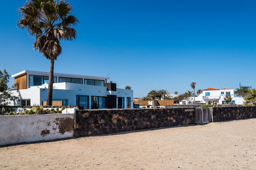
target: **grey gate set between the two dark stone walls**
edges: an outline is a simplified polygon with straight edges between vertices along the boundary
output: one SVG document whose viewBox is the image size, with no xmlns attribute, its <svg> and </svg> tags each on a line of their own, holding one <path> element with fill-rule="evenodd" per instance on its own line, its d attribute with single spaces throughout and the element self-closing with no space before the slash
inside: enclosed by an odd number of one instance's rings
<svg viewBox="0 0 256 170">
<path fill-rule="evenodd" d="M 211 122 L 212 108 L 196 108 L 195 111 L 196 124 L 205 124 Z"/>
</svg>

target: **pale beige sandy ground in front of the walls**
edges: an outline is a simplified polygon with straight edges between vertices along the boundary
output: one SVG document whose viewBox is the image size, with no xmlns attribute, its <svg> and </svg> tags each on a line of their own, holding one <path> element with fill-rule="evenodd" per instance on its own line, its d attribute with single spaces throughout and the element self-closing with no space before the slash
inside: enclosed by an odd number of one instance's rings
<svg viewBox="0 0 256 170">
<path fill-rule="evenodd" d="M 256 118 L 8 146 L 0 169 L 256 169 Z"/>
</svg>

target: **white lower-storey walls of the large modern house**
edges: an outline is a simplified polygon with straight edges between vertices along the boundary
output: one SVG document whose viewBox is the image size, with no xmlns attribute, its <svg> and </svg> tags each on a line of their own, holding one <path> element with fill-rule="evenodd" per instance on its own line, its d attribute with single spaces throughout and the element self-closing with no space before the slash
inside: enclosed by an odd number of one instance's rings
<svg viewBox="0 0 256 170">
<path fill-rule="evenodd" d="M 22 99 L 30 99 L 31 106 L 42 105 L 47 100 L 48 84 L 30 87 L 29 89 L 13 90 L 15 96 Z M 124 97 L 124 108 L 127 108 L 127 97 L 131 97 L 131 108 L 133 108 L 133 90 L 116 89 L 116 91 L 108 91 L 107 87 L 95 85 L 83 85 L 77 83 L 54 83 L 52 91 L 52 99 L 68 99 L 68 105 L 76 106 L 76 96 L 88 96 L 89 108 L 91 108 L 91 96 L 106 97 L 108 95 L 116 95 L 116 97 Z M 116 99 L 116 104 L 117 104 Z M 12 103 L 12 105 L 15 105 Z M 116 105 L 117 106 L 117 105 Z"/>
</svg>

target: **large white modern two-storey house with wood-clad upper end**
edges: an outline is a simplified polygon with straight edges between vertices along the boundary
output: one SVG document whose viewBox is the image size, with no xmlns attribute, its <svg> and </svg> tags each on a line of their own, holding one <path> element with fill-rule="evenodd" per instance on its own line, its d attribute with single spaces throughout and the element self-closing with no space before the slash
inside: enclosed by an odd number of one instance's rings
<svg viewBox="0 0 256 170">
<path fill-rule="evenodd" d="M 24 70 L 12 75 L 15 78 L 13 94 L 20 101 L 12 105 L 39 106 L 47 100 L 49 73 Z M 91 109 L 93 100 L 102 108 L 133 108 L 133 90 L 118 89 L 108 83 L 108 77 L 54 73 L 52 101 L 63 106 L 83 106 Z"/>
</svg>

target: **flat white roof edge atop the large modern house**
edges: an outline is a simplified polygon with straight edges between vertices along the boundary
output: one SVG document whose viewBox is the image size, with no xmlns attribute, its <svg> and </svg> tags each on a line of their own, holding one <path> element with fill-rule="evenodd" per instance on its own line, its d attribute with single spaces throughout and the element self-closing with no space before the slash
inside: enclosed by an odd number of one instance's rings
<svg viewBox="0 0 256 170">
<path fill-rule="evenodd" d="M 23 70 L 19 73 L 13 74 L 12 78 L 16 78 L 22 76 L 24 74 L 36 74 L 36 75 L 45 75 L 49 76 L 49 72 L 44 71 L 30 71 L 30 70 Z M 108 80 L 109 77 L 100 77 L 100 76 L 87 76 L 87 75 L 78 75 L 78 74 L 64 74 L 64 73 L 54 73 L 54 76 L 64 76 L 64 77 L 73 77 L 73 78 L 89 78 L 89 79 L 97 79 L 97 80 Z"/>
</svg>

